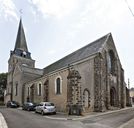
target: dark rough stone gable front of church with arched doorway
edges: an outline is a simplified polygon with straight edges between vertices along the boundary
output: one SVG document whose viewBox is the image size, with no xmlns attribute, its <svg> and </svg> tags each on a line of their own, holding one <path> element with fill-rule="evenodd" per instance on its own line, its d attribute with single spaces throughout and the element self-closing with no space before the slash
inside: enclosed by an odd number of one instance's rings
<svg viewBox="0 0 134 128">
<path fill-rule="evenodd" d="M 109 39 L 102 52 L 95 57 L 94 69 L 94 110 L 125 107 L 124 71 L 112 39 Z"/>
</svg>

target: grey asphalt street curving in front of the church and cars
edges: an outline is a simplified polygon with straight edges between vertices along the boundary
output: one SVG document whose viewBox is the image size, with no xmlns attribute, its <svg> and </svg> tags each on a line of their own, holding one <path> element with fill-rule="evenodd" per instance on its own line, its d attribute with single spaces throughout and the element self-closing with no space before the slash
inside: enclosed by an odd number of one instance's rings
<svg viewBox="0 0 134 128">
<path fill-rule="evenodd" d="M 42 116 L 34 112 L 4 107 L 0 108 L 0 112 L 3 114 L 9 128 L 117 128 L 134 118 L 134 108 L 91 115 L 76 120 L 58 119 L 58 117 L 61 117 L 60 114 Z"/>
</svg>

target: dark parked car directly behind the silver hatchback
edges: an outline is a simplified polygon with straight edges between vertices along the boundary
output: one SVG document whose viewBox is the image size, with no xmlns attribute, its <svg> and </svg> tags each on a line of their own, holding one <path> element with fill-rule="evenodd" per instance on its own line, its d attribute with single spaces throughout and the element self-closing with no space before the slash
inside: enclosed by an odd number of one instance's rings
<svg viewBox="0 0 134 128">
<path fill-rule="evenodd" d="M 34 111 L 36 107 L 35 103 L 32 102 L 26 102 L 23 104 L 22 109 L 23 110 L 28 110 L 28 111 Z"/>
</svg>

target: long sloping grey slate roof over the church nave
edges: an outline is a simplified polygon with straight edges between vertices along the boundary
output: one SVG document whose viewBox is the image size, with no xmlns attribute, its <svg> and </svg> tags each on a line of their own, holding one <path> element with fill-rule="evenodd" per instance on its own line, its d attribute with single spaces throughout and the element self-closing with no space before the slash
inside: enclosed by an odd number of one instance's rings
<svg viewBox="0 0 134 128">
<path fill-rule="evenodd" d="M 86 45 L 85 47 L 69 54 L 68 56 L 56 61 L 55 63 L 45 67 L 44 74 L 50 73 L 63 67 L 68 67 L 69 64 L 83 60 L 95 53 L 98 53 L 102 49 L 104 43 L 107 41 L 110 35 L 111 34 L 109 33 L 99 38 L 98 40 Z"/>
</svg>

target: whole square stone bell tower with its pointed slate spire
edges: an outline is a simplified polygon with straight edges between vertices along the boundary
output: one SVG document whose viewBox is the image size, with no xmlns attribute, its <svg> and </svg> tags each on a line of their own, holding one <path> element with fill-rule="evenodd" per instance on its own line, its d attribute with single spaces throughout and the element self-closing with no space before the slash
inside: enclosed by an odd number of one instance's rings
<svg viewBox="0 0 134 128">
<path fill-rule="evenodd" d="M 14 100 L 14 78 L 17 76 L 16 72 L 21 72 L 21 67 L 24 66 L 34 68 L 35 60 L 31 58 L 31 53 L 28 51 L 22 19 L 20 19 L 15 47 L 14 50 L 10 52 L 10 58 L 8 60 L 8 77 L 5 102 Z"/>
</svg>

